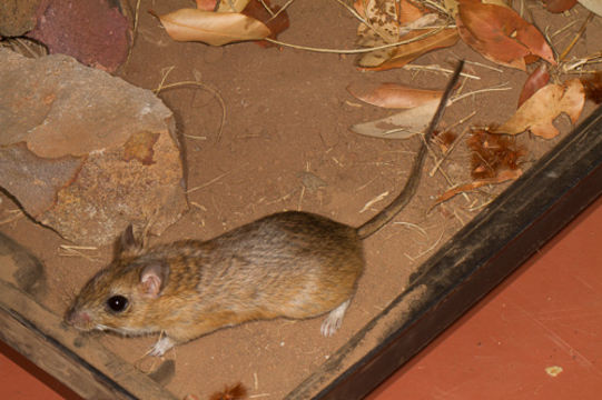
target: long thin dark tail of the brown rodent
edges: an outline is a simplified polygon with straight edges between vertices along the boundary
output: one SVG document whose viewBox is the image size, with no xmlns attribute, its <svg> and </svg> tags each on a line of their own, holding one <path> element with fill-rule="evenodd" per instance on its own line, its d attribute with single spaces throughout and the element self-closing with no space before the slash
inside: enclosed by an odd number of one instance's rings
<svg viewBox="0 0 602 400">
<path fill-rule="evenodd" d="M 405 182 L 405 187 L 403 188 L 402 192 L 387 207 L 385 207 L 381 212 L 378 212 L 376 216 L 372 217 L 359 228 L 357 228 L 357 234 L 361 239 L 367 238 L 372 233 L 376 232 L 378 229 L 383 228 L 393 217 L 395 217 L 399 211 L 404 209 L 404 207 L 416 193 L 416 189 L 418 188 L 418 183 L 421 181 L 422 168 L 424 166 L 424 159 L 426 158 L 425 156 L 428 142 L 433 137 L 433 131 L 437 127 L 441 117 L 443 117 L 443 111 L 445 110 L 447 100 L 452 94 L 452 90 L 454 89 L 454 86 L 460 78 L 460 72 L 462 72 L 463 67 L 464 60 L 461 60 L 454 71 L 454 74 L 452 76 L 452 79 L 447 83 L 443 96 L 441 97 L 437 111 L 433 116 L 433 119 L 428 124 L 428 129 L 426 129 L 426 132 L 424 133 L 424 140 L 422 140 L 418 153 L 414 159 L 414 164 L 412 166 L 412 171 L 409 172 L 409 178 Z"/>
</svg>

